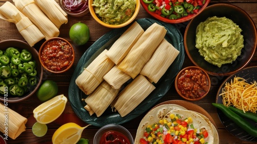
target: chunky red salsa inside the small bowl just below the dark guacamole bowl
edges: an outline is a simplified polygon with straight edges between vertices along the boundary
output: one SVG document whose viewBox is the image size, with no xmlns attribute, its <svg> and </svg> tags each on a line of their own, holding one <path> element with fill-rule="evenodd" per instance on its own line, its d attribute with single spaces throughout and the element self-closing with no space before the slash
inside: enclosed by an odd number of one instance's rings
<svg viewBox="0 0 257 144">
<path fill-rule="evenodd" d="M 177 81 L 180 93 L 189 99 L 197 99 L 208 91 L 208 78 L 200 69 L 183 71 Z"/>
</svg>

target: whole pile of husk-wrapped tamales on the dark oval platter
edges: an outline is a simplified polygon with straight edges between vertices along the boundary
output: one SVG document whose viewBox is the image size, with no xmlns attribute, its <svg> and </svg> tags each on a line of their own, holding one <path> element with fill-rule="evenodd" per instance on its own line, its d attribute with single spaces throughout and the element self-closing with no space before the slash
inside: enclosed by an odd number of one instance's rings
<svg viewBox="0 0 257 144">
<path fill-rule="evenodd" d="M 99 117 L 111 106 L 124 117 L 154 91 L 152 82 L 159 81 L 179 53 L 164 39 L 166 32 L 157 23 L 144 31 L 134 22 L 82 71 L 76 84 L 89 95 L 84 108 L 90 115 Z"/>
</svg>

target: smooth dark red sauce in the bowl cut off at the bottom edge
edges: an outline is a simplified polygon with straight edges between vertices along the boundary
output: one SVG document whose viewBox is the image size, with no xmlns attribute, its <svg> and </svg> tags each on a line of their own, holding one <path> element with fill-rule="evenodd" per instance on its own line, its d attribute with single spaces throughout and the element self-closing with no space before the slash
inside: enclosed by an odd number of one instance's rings
<svg viewBox="0 0 257 144">
<path fill-rule="evenodd" d="M 100 139 L 101 144 L 130 144 L 130 140 L 120 132 L 107 131 Z"/>
</svg>

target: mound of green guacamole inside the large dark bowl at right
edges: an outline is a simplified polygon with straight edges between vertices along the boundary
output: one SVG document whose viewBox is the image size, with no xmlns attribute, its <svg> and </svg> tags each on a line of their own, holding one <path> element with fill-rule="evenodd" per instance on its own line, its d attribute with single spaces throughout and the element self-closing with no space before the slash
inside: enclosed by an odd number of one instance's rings
<svg viewBox="0 0 257 144">
<path fill-rule="evenodd" d="M 205 60 L 221 67 L 232 63 L 244 47 L 242 29 L 226 17 L 209 17 L 196 28 L 196 48 Z"/>
</svg>

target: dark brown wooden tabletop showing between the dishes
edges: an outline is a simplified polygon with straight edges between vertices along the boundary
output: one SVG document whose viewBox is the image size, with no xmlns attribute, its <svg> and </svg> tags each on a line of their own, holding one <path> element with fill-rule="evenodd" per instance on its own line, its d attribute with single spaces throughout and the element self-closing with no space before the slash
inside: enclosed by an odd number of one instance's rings
<svg viewBox="0 0 257 144">
<path fill-rule="evenodd" d="M 12 2 L 11 0 L 8 0 Z M 56 0 L 57 1 L 57 0 Z M 2 6 L 6 1 L 0 0 L 0 6 Z M 245 10 L 253 19 L 255 25 L 257 25 L 257 1 L 256 0 L 213 0 L 209 5 L 216 4 L 216 3 L 229 3 L 235 6 L 238 6 Z M 145 10 L 141 7 L 139 14 L 136 19 L 141 19 L 144 17 L 151 17 L 148 13 L 145 12 Z M 83 55 L 83 53 L 87 50 L 87 48 L 92 45 L 96 40 L 98 40 L 103 34 L 106 32 L 112 30 L 111 28 L 106 28 L 98 24 L 93 17 L 91 17 L 90 13 L 88 13 L 86 16 L 83 17 L 71 17 L 68 16 L 69 22 L 65 25 L 62 25 L 60 28 L 60 35 L 59 37 L 64 38 L 68 41 L 69 39 L 69 28 L 71 25 L 82 22 L 88 25 L 90 29 L 90 39 L 87 44 L 84 46 L 74 46 L 75 52 L 76 52 L 76 60 L 74 65 L 70 70 L 68 70 L 66 73 L 54 75 L 47 73 L 44 71 L 43 80 L 53 80 L 58 83 L 59 92 L 58 94 L 64 94 L 66 97 L 68 97 L 68 87 L 70 83 L 71 76 L 73 74 L 73 70 L 75 69 L 79 59 Z M 181 33 L 183 34 L 185 31 L 185 28 L 188 23 L 182 23 L 178 24 L 177 26 L 181 30 Z M 13 23 L 6 22 L 4 20 L 0 20 L 0 41 L 3 40 L 9 40 L 9 39 L 17 39 L 17 40 L 23 40 L 23 37 L 21 34 L 17 31 L 16 26 Z M 40 41 L 39 43 L 35 44 L 34 48 L 39 50 L 39 47 L 44 42 L 44 40 Z M 187 67 L 193 65 L 193 63 L 189 60 L 189 58 L 185 57 L 185 62 L 182 65 L 183 67 Z M 251 63 L 248 66 L 254 66 L 257 65 L 257 54 L 252 59 Z M 211 76 L 212 79 L 212 85 L 211 85 L 211 91 L 210 93 L 204 98 L 199 101 L 195 101 L 194 103 L 203 107 L 213 118 L 215 121 L 217 128 L 218 128 L 218 134 L 221 143 L 250 143 L 246 141 L 242 141 L 233 135 L 231 135 L 223 126 L 221 121 L 218 118 L 218 115 L 216 113 L 216 109 L 211 105 L 212 102 L 215 102 L 216 94 L 219 88 L 219 85 L 224 81 L 226 77 L 214 77 Z M 156 104 L 168 101 L 168 100 L 182 100 L 182 98 L 176 93 L 174 83 L 172 83 L 172 87 L 170 88 L 170 91 L 164 96 L 161 100 L 159 100 Z M 48 126 L 48 132 L 43 137 L 36 137 L 33 135 L 31 131 L 32 125 L 36 122 L 36 120 L 33 117 L 32 111 L 34 108 L 38 105 L 40 105 L 42 102 L 39 101 L 39 99 L 33 95 L 27 100 L 20 102 L 20 103 L 9 103 L 8 106 L 10 109 L 16 111 L 17 113 L 21 114 L 22 116 L 26 117 L 28 119 L 28 122 L 26 123 L 26 131 L 23 132 L 19 137 L 17 137 L 15 140 L 12 140 L 11 138 L 8 139 L 8 143 L 51 143 L 51 138 L 54 133 L 62 124 L 65 124 L 67 122 L 75 122 L 81 126 L 87 125 L 87 123 L 83 122 L 80 118 L 76 116 L 74 111 L 71 108 L 71 105 L 69 101 L 67 102 L 65 111 L 63 114 L 55 121 L 47 124 Z M 144 114 L 143 114 L 144 115 Z M 138 124 L 140 120 L 142 119 L 143 115 L 138 116 L 137 118 L 121 124 L 125 128 L 127 128 L 133 137 L 135 138 L 136 131 Z M 2 124 L 2 123 L 1 123 Z M 89 143 L 93 143 L 93 138 L 95 133 L 99 127 L 90 126 L 87 129 L 85 129 L 82 133 L 83 138 L 89 139 Z"/>
</svg>

